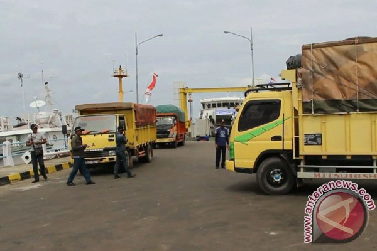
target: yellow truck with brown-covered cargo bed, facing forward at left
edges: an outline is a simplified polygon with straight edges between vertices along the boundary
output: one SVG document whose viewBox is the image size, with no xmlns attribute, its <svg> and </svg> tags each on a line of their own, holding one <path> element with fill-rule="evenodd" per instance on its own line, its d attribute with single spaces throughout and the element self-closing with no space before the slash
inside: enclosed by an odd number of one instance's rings
<svg viewBox="0 0 377 251">
<path fill-rule="evenodd" d="M 92 103 L 76 105 L 79 116 L 73 127 L 85 129 L 81 135 L 89 168 L 105 163 L 114 163 L 115 133 L 118 126 L 124 126 L 128 142 L 129 157 L 136 156 L 141 162 L 150 162 L 153 157 L 152 145 L 156 141 L 156 109 L 151 105 L 136 103 Z M 132 166 L 132 158 L 129 158 Z"/>
</svg>

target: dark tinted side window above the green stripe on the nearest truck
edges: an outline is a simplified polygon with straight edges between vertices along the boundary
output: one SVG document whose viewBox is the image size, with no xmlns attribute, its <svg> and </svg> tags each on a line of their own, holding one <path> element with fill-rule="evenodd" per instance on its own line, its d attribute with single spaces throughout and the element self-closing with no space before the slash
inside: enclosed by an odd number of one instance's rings
<svg viewBox="0 0 377 251">
<path fill-rule="evenodd" d="M 246 131 L 277 120 L 280 115 L 280 100 L 251 100 L 242 110 L 238 131 Z"/>
</svg>

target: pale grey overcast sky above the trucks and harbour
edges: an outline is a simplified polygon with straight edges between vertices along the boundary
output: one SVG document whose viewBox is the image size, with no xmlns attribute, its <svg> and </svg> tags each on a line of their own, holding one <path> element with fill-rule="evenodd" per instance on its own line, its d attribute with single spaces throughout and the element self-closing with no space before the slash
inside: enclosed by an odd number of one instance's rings
<svg viewBox="0 0 377 251">
<path fill-rule="evenodd" d="M 253 27 L 255 77 L 276 78 L 302 44 L 375 37 L 377 1 L 350 0 L 0 0 L 0 116 L 22 114 L 17 73 L 24 81 L 26 110 L 54 91 L 56 108 L 69 112 L 80 103 L 118 101 L 112 65 L 126 66 L 125 101 L 136 101 L 135 32 L 139 46 L 139 96 L 143 101 L 152 73 L 159 75 L 150 103 L 174 103 L 173 82 L 189 87 L 245 86 L 251 83 Z M 195 94 L 199 100 L 225 93 Z M 231 96 L 241 96 L 232 93 Z M 39 99 L 44 99 L 39 96 Z M 60 106 L 61 107 L 60 107 Z"/>
</svg>

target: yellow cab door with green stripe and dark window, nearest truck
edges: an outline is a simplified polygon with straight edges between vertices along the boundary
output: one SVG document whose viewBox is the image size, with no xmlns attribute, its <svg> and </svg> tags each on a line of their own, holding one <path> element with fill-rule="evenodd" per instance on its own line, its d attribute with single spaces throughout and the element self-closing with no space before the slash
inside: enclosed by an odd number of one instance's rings
<svg viewBox="0 0 377 251">
<path fill-rule="evenodd" d="M 261 152 L 282 149 L 284 103 L 280 98 L 248 101 L 234 134 L 236 167 L 253 168 Z"/>
</svg>

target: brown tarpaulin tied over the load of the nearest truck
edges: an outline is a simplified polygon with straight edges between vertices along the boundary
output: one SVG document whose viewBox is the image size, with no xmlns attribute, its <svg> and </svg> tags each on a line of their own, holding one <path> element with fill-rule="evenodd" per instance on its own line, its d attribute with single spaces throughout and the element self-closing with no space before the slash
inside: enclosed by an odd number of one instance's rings
<svg viewBox="0 0 377 251">
<path fill-rule="evenodd" d="M 377 111 L 377 38 L 303 45 L 301 65 L 304 113 Z"/>
</svg>

